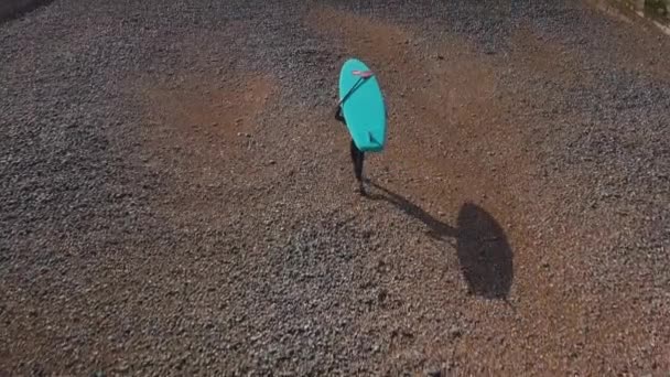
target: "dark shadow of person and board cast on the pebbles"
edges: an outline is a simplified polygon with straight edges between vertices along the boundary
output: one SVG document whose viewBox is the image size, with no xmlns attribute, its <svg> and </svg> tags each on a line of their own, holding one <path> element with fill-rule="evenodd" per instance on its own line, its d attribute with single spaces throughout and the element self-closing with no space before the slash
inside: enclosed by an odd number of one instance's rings
<svg viewBox="0 0 670 377">
<path fill-rule="evenodd" d="M 375 182 L 368 183 L 383 193 L 369 195 L 370 200 L 383 200 L 421 220 L 435 239 L 456 239 L 458 263 L 471 294 L 507 299 L 514 279 L 514 254 L 505 231 L 490 214 L 476 204 L 465 203 L 458 211 L 456 227 L 452 227 L 406 197 Z"/>
</svg>

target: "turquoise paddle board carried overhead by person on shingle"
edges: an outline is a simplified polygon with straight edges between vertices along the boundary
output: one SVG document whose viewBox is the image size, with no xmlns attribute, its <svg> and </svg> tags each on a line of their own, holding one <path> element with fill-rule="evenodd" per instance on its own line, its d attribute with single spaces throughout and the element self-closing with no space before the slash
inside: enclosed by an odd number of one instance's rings
<svg viewBox="0 0 670 377">
<path fill-rule="evenodd" d="M 339 100 L 345 123 L 356 147 L 379 152 L 386 143 L 386 105 L 377 77 L 357 58 L 349 58 L 339 72 Z"/>
</svg>

